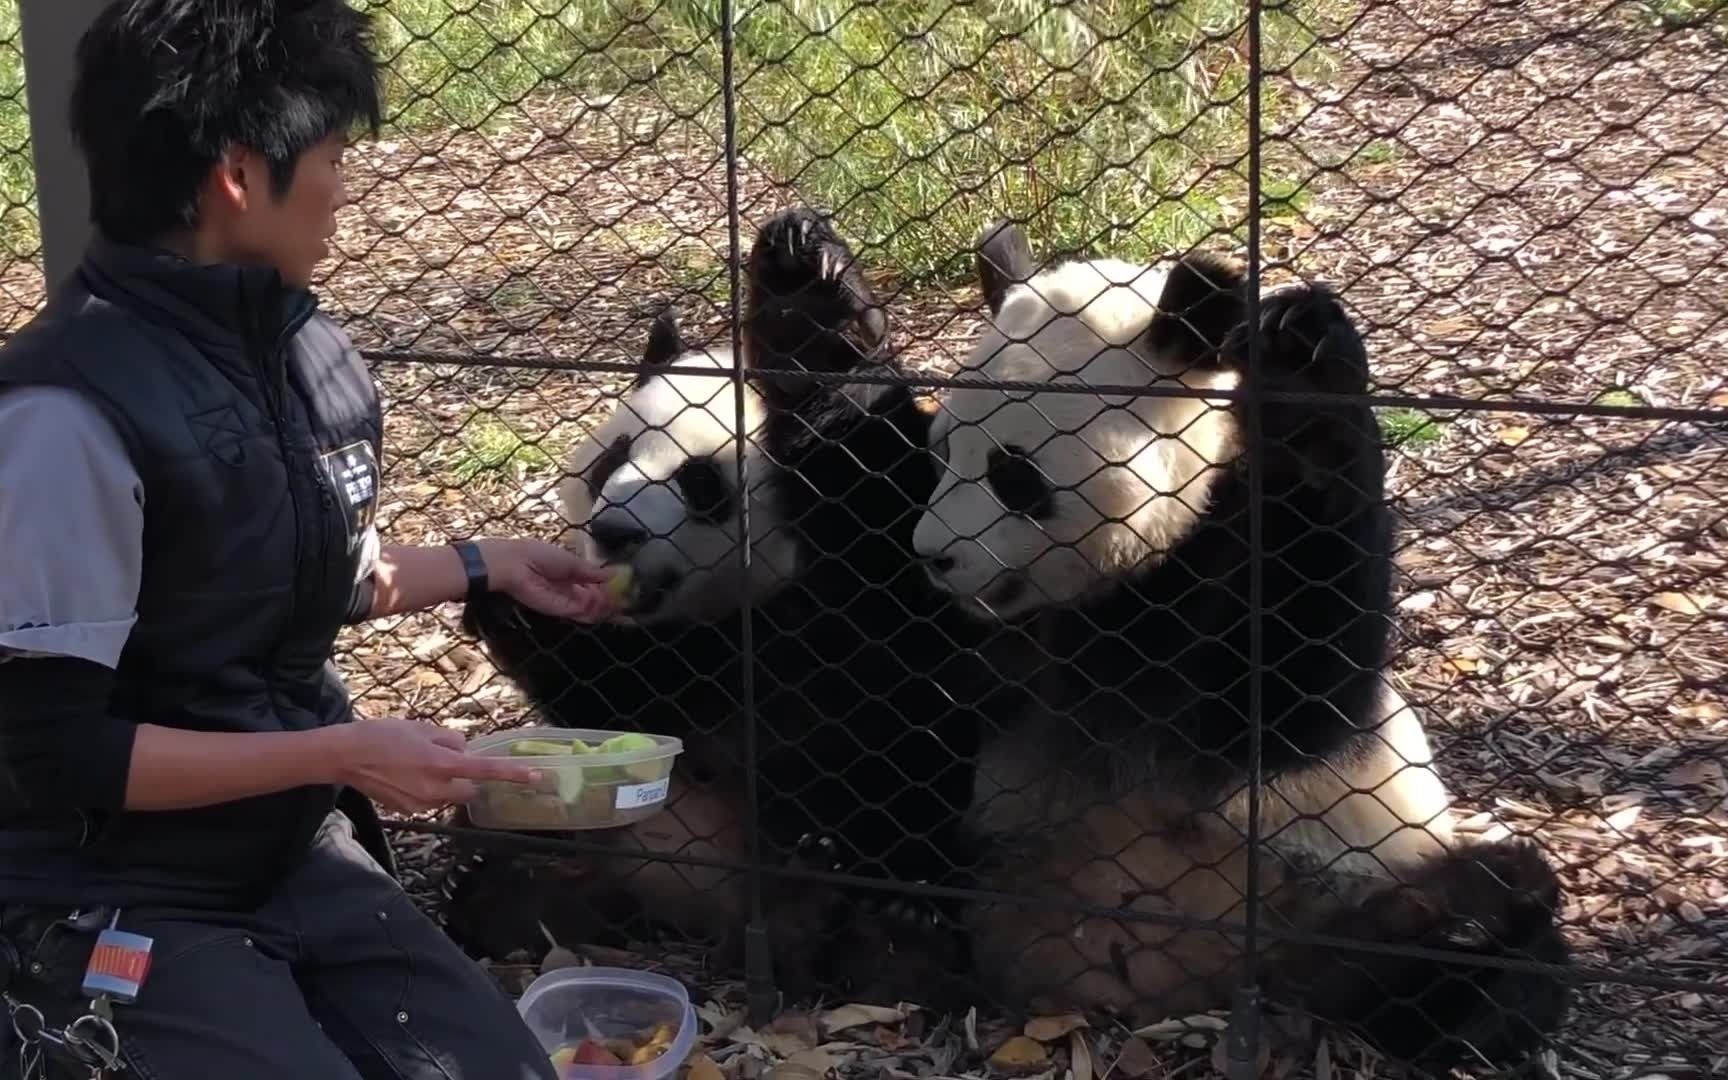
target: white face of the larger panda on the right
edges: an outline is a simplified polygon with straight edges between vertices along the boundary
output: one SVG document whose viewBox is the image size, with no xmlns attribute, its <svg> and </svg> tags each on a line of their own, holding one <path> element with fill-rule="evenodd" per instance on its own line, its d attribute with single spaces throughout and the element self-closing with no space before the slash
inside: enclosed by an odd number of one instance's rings
<svg viewBox="0 0 1728 1080">
<path fill-rule="evenodd" d="M 1234 389 L 1154 356 L 1158 270 L 1066 263 L 1013 285 L 966 375 L 1037 385 Z M 1234 451 L 1223 399 L 952 389 L 931 430 L 945 463 L 914 544 L 982 617 L 1013 619 L 1151 565 L 1187 532 Z"/>
</svg>

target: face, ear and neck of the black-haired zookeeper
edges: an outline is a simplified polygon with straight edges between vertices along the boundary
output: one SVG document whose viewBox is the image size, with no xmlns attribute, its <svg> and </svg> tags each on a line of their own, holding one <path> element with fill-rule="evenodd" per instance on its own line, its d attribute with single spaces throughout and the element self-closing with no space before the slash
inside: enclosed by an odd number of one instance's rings
<svg viewBox="0 0 1728 1080">
<path fill-rule="evenodd" d="M 347 204 L 346 149 L 340 133 L 308 149 L 280 197 L 261 154 L 230 152 L 218 164 L 213 197 L 206 200 L 211 254 L 230 263 L 275 266 L 289 285 L 311 283 L 313 270 L 330 254 L 335 214 Z"/>
</svg>

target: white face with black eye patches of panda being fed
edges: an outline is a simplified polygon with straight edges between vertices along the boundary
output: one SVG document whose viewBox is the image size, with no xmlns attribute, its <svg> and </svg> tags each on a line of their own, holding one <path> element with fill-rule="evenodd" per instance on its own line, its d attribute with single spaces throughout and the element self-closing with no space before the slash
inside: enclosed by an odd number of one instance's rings
<svg viewBox="0 0 1728 1080">
<path fill-rule="evenodd" d="M 740 565 L 746 499 L 738 487 L 738 406 L 724 375 L 729 353 L 684 353 L 619 403 L 570 454 L 560 503 L 574 527 L 572 548 L 607 563 L 629 563 L 638 600 L 627 619 L 714 619 L 743 596 L 764 596 L 793 570 L 793 541 L 769 499 L 757 435 L 764 406 L 745 387 L 745 491 L 750 510 L 750 572 Z"/>
</svg>

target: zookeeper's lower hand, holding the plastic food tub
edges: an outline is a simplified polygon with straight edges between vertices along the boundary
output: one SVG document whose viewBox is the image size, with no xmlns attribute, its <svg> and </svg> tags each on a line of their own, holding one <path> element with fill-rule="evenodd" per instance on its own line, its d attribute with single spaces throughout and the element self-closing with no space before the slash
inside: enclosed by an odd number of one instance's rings
<svg viewBox="0 0 1728 1080">
<path fill-rule="evenodd" d="M 475 797 L 477 779 L 534 783 L 539 771 L 505 757 L 468 753 L 460 731 L 404 719 L 358 719 L 325 727 L 335 779 L 399 814 L 435 810 Z"/>
</svg>

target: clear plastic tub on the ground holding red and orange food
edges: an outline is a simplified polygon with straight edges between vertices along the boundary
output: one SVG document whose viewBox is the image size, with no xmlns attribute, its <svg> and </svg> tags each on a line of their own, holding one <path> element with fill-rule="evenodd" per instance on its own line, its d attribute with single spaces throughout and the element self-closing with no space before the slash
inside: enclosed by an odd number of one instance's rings
<svg viewBox="0 0 1728 1080">
<path fill-rule="evenodd" d="M 696 1009 L 665 975 L 627 968 L 560 968 L 529 983 L 517 1013 L 558 1066 L 558 1080 L 664 1080 L 696 1045 Z M 643 1064 L 567 1064 L 584 1039 L 639 1045 L 658 1025 L 672 1028 L 665 1052 Z M 619 1047 L 626 1049 L 626 1047 Z"/>
</svg>

